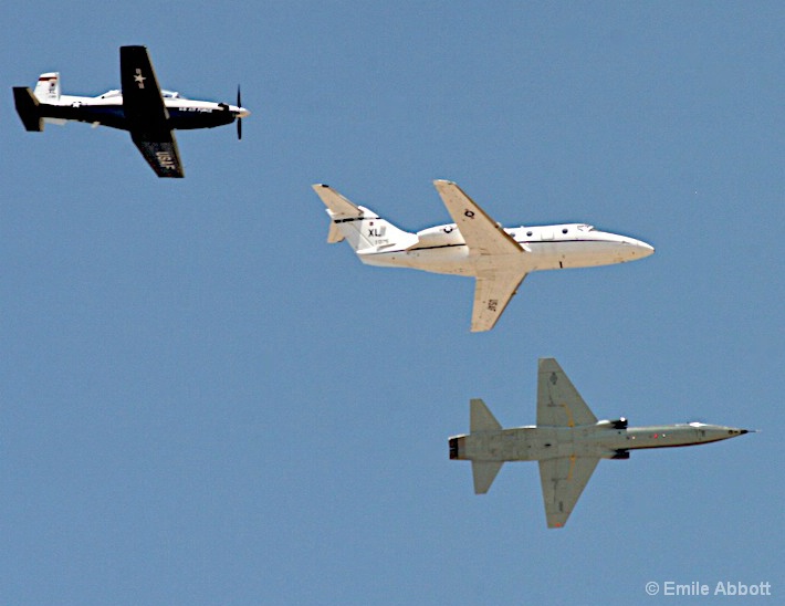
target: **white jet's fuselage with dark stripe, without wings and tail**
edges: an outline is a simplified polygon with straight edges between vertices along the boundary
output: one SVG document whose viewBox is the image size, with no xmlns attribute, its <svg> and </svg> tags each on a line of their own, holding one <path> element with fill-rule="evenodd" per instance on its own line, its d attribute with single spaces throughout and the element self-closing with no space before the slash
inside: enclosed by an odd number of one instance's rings
<svg viewBox="0 0 785 606">
<path fill-rule="evenodd" d="M 635 238 L 598 231 L 585 223 L 505 228 L 524 254 L 493 255 L 493 267 L 525 272 L 566 268 L 589 268 L 642 259 L 655 249 Z M 470 254 L 454 223 L 437 226 L 417 233 L 419 242 L 408 250 L 358 252 L 364 263 L 412 268 L 433 273 L 477 275 L 488 263 Z"/>
</svg>

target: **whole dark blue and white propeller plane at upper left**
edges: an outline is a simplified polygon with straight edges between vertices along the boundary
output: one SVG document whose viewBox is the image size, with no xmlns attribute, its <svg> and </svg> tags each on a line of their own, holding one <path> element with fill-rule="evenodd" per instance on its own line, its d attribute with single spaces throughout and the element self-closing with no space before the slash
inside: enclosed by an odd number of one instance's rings
<svg viewBox="0 0 785 606">
<path fill-rule="evenodd" d="M 242 138 L 242 118 L 250 112 L 240 104 L 239 87 L 237 105 L 161 91 L 145 46 L 121 46 L 119 71 L 123 90 L 97 97 L 61 95 L 56 72 L 41 74 L 34 92 L 14 86 L 13 100 L 24 128 L 41 132 L 44 123 L 75 121 L 128 130 L 159 177 L 184 176 L 176 128 L 212 128 L 237 119 L 238 138 Z"/>
</svg>

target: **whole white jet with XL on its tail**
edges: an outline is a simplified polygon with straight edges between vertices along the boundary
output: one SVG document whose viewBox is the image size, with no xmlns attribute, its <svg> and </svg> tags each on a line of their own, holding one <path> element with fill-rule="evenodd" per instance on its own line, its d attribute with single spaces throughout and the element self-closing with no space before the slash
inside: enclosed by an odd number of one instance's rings
<svg viewBox="0 0 785 606">
<path fill-rule="evenodd" d="M 346 239 L 363 263 L 473 275 L 472 332 L 490 331 L 526 274 L 648 257 L 655 249 L 586 223 L 503 228 L 451 181 L 433 181 L 453 223 L 409 233 L 326 185 L 313 188 L 332 220 L 327 242 Z"/>
</svg>

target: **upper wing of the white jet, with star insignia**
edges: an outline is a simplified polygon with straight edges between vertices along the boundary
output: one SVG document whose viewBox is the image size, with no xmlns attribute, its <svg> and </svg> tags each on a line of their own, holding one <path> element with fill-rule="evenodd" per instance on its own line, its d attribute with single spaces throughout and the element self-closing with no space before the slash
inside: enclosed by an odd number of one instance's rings
<svg viewBox="0 0 785 606">
<path fill-rule="evenodd" d="M 469 254 L 515 254 L 523 252 L 512 236 L 491 219 L 474 200 L 452 181 L 433 181 L 448 212 L 469 247 Z"/>
</svg>

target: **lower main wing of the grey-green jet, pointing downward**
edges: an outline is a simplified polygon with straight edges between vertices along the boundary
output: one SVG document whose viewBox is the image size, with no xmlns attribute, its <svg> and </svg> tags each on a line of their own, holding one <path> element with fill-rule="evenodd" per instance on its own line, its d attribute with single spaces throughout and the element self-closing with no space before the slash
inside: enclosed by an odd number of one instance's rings
<svg viewBox="0 0 785 606">
<path fill-rule="evenodd" d="M 595 457 L 559 457 L 540 461 L 540 481 L 550 529 L 561 529 L 567 523 L 598 462 Z"/>
</svg>

